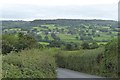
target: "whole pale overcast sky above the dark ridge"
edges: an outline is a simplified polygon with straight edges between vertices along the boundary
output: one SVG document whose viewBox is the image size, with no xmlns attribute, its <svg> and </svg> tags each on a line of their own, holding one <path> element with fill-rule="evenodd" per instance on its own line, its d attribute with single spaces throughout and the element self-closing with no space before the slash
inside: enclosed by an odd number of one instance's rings
<svg viewBox="0 0 120 80">
<path fill-rule="evenodd" d="M 0 0 L 0 20 L 118 20 L 119 0 Z"/>
</svg>

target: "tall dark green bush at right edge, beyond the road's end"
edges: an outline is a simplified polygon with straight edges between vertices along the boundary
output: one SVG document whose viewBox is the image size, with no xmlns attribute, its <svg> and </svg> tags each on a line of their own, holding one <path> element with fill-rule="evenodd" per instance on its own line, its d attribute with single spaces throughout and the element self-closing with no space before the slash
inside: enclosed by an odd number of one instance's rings
<svg viewBox="0 0 120 80">
<path fill-rule="evenodd" d="M 104 58 L 101 62 L 102 72 L 107 77 L 118 77 L 118 39 L 110 41 L 105 46 Z"/>
</svg>

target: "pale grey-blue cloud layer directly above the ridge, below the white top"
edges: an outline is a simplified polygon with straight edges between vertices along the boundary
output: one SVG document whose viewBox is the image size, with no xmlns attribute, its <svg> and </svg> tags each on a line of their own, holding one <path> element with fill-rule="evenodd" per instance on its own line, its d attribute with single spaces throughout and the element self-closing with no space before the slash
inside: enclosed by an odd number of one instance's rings
<svg viewBox="0 0 120 80">
<path fill-rule="evenodd" d="M 117 20 L 116 4 L 99 5 L 36 5 L 14 4 L 2 8 L 1 19 L 112 19 Z"/>
</svg>

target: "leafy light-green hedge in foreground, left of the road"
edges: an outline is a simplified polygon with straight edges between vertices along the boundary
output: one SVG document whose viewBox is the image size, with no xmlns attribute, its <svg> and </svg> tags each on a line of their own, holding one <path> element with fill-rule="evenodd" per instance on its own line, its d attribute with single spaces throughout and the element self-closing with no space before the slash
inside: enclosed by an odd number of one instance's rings
<svg viewBox="0 0 120 80">
<path fill-rule="evenodd" d="M 52 55 L 32 49 L 3 56 L 3 78 L 56 78 L 56 63 Z"/>
</svg>

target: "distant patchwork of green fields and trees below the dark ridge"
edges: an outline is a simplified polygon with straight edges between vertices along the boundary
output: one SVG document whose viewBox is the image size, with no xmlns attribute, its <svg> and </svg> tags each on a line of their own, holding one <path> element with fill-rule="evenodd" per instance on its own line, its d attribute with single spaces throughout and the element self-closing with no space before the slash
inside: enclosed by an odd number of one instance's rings
<svg viewBox="0 0 120 80">
<path fill-rule="evenodd" d="M 97 20 L 93 20 L 93 22 L 95 21 Z M 42 22 L 42 21 L 38 20 L 38 22 Z M 102 22 L 102 21 L 99 21 L 99 22 Z M 13 21 L 11 23 L 13 24 L 15 22 Z M 34 25 L 30 26 L 29 28 L 17 27 L 17 26 L 15 28 L 14 27 L 4 28 L 8 26 L 4 26 L 4 22 L 3 22 L 3 33 L 22 32 L 22 33 L 35 36 L 36 39 L 40 42 L 41 41 L 46 42 L 46 40 L 48 41 L 54 40 L 51 34 L 55 34 L 62 41 L 65 41 L 65 42 L 81 43 L 82 40 L 93 39 L 94 41 L 97 41 L 98 44 L 100 44 L 102 42 L 108 42 L 113 38 L 117 37 L 117 33 L 119 30 L 117 26 L 114 26 L 114 25 L 112 26 L 111 24 L 106 24 L 107 25 L 106 26 L 106 25 L 103 25 L 102 23 L 99 25 L 93 24 L 93 23 L 89 23 L 89 24 L 80 23 L 78 25 L 75 25 L 75 24 L 73 25 L 70 23 L 67 25 L 60 25 L 60 24 L 53 24 L 53 23 L 48 24 L 47 21 L 46 23 L 43 23 L 43 24 L 37 23 L 37 21 L 33 21 L 32 23 L 34 23 Z"/>
</svg>

